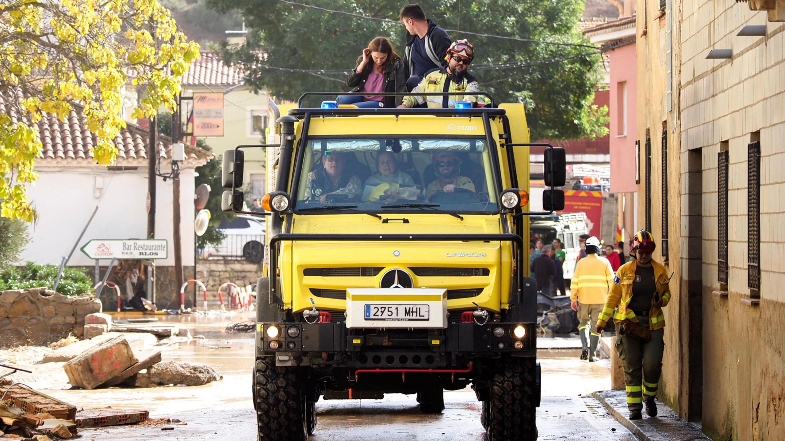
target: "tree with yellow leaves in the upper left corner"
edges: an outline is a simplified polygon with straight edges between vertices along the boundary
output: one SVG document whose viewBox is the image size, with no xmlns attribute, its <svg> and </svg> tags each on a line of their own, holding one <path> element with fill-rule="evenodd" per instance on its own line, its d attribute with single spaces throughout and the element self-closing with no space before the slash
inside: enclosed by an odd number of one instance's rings
<svg viewBox="0 0 785 441">
<path fill-rule="evenodd" d="M 35 123 L 45 113 L 64 121 L 84 108 L 93 158 L 109 165 L 129 79 L 144 89 L 133 117 L 148 118 L 174 108 L 198 57 L 159 0 L 0 0 L 0 216 L 35 219 L 26 186 L 37 177 Z"/>
</svg>

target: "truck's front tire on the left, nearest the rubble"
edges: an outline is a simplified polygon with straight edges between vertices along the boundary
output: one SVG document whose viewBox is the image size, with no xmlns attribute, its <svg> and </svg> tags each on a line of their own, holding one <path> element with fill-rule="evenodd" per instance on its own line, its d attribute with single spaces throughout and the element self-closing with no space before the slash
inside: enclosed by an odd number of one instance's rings
<svg viewBox="0 0 785 441">
<path fill-rule="evenodd" d="M 276 366 L 272 357 L 256 359 L 254 399 L 258 441 L 304 441 L 308 437 L 307 403 L 301 377 L 298 367 Z"/>
</svg>

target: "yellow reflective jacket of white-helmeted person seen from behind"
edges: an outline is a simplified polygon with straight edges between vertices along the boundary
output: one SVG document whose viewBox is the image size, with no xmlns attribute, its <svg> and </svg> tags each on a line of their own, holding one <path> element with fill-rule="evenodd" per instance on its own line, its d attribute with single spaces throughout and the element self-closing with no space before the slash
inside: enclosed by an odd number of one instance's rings
<svg viewBox="0 0 785 441">
<path fill-rule="evenodd" d="M 581 304 L 604 304 L 611 286 L 611 262 L 597 254 L 588 254 L 575 266 L 570 282 L 570 300 L 577 300 Z"/>
</svg>

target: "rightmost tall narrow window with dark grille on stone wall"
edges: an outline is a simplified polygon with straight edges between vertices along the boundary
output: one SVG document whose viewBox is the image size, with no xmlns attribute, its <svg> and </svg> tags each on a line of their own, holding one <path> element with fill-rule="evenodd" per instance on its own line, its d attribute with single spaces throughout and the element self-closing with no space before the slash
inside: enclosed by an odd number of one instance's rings
<svg viewBox="0 0 785 441">
<path fill-rule="evenodd" d="M 747 286 L 761 289 L 761 141 L 747 145 Z"/>
</svg>

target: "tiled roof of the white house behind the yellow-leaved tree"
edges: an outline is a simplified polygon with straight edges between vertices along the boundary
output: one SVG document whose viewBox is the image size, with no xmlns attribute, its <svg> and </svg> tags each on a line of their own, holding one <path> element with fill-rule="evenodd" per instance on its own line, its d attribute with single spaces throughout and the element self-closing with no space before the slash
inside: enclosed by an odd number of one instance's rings
<svg viewBox="0 0 785 441">
<path fill-rule="evenodd" d="M 21 93 L 17 93 L 15 99 L 20 100 Z M 9 103 L 9 100 L 0 97 L 0 112 L 11 116 L 12 121 L 16 122 L 18 121 L 16 112 Z M 87 128 L 84 109 L 81 106 L 74 106 L 65 121 L 44 114 L 43 118 L 32 123 L 32 126 L 38 132 L 42 143 L 39 165 L 79 166 L 96 163 L 91 149 L 97 144 L 97 137 Z M 162 158 L 168 157 L 171 151 L 170 144 L 169 137 L 159 137 L 159 151 Z M 126 128 L 121 129 L 115 138 L 115 147 L 118 150 L 115 165 L 131 166 L 139 162 L 146 164 L 148 130 L 126 122 Z M 187 146 L 186 151 L 191 162 L 203 163 L 213 156 L 212 153 L 201 148 Z"/>
</svg>

